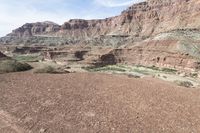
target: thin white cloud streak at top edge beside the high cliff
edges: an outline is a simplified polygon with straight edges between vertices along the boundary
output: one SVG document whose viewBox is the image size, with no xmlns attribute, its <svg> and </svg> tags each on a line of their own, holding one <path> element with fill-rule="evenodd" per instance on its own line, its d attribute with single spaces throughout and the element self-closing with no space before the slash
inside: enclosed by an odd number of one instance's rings
<svg viewBox="0 0 200 133">
<path fill-rule="evenodd" d="M 105 7 L 122 7 L 142 1 L 144 0 L 95 0 L 95 3 Z"/>
</svg>

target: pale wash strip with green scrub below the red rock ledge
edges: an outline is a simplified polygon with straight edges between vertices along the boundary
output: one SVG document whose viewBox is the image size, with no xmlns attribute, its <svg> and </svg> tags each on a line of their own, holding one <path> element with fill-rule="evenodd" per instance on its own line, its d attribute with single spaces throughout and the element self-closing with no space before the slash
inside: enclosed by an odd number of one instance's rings
<svg viewBox="0 0 200 133">
<path fill-rule="evenodd" d="M 145 67 L 145 66 L 127 66 L 127 65 L 109 65 L 98 68 L 83 68 L 89 72 L 108 72 L 124 74 L 130 78 L 140 78 L 145 75 L 150 75 L 154 78 L 159 78 L 165 81 L 175 82 L 179 86 L 193 87 L 196 86 L 197 81 L 192 82 L 191 79 L 181 77 L 177 74 L 176 69 L 171 68 L 159 68 L 156 66 Z M 197 73 L 190 75 L 191 78 L 198 77 Z M 198 83 L 197 83 L 198 84 Z"/>
</svg>

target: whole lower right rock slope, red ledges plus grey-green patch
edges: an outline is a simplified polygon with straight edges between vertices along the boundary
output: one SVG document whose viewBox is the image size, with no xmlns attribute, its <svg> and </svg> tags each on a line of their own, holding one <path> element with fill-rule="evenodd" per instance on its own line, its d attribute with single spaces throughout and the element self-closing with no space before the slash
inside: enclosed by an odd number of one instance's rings
<svg viewBox="0 0 200 133">
<path fill-rule="evenodd" d="M 99 63 L 198 70 L 200 68 L 200 40 L 194 38 L 200 33 L 195 33 L 186 31 L 162 33 L 138 44 L 114 49 L 105 54 L 104 58 L 99 58 Z"/>
</svg>

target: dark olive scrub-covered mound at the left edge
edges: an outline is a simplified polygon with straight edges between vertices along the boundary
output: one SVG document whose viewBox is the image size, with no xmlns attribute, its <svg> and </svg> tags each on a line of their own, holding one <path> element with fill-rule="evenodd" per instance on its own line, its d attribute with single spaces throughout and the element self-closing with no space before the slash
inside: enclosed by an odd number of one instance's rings
<svg viewBox="0 0 200 133">
<path fill-rule="evenodd" d="M 21 63 L 16 60 L 6 59 L 0 61 L 0 73 L 20 72 L 32 69 L 27 63 Z"/>
</svg>

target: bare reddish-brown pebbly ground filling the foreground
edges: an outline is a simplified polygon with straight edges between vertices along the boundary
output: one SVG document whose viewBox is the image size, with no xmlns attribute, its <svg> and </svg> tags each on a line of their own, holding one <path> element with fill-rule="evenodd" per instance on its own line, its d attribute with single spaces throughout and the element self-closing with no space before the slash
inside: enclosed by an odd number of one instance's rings
<svg viewBox="0 0 200 133">
<path fill-rule="evenodd" d="M 157 79 L 0 75 L 0 133 L 198 133 L 200 90 Z"/>
</svg>

